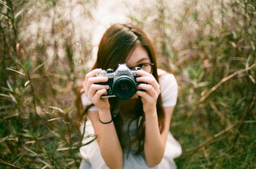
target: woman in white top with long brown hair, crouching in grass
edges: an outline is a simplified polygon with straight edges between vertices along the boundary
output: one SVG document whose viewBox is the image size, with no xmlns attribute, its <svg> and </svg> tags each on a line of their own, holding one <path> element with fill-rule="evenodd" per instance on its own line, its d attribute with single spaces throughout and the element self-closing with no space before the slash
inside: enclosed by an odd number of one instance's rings
<svg viewBox="0 0 256 169">
<path fill-rule="evenodd" d="M 140 77 L 130 99 L 102 98 L 109 85 L 102 70 L 118 64 L 138 66 Z M 140 83 L 141 82 L 141 83 Z M 81 147 L 80 168 L 176 168 L 173 158 L 181 154 L 169 132 L 177 101 L 177 82 L 172 74 L 157 70 L 156 55 L 147 35 L 132 24 L 115 24 L 104 33 L 97 61 L 86 74 L 81 97 L 87 121 Z M 93 107 L 92 107 L 93 106 Z M 92 140 L 90 136 L 96 136 Z"/>
</svg>

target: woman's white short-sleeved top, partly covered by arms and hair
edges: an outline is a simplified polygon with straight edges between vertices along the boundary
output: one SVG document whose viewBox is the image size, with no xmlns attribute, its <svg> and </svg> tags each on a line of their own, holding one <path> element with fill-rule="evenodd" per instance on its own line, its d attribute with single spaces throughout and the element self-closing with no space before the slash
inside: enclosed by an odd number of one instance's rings
<svg viewBox="0 0 256 169">
<path fill-rule="evenodd" d="M 161 96 L 163 107 L 174 107 L 177 103 L 177 95 L 178 95 L 178 85 L 175 77 L 170 73 L 165 73 L 161 71 L 160 74 L 163 74 L 159 77 L 159 85 L 161 89 Z M 82 103 L 84 107 L 92 104 L 92 102 L 86 97 L 83 93 L 81 96 Z M 97 111 L 97 107 L 93 106 L 90 108 L 90 111 Z M 83 131 L 84 125 L 81 126 L 81 131 Z M 129 128 L 129 133 L 131 132 Z M 86 128 L 84 133 L 83 143 L 89 142 L 93 140 L 94 129 L 92 127 L 92 122 L 88 120 L 86 122 Z M 90 137 L 91 135 L 91 137 Z M 88 137 L 89 136 L 89 137 Z M 125 153 L 125 151 L 123 151 Z M 181 146 L 175 138 L 173 138 L 172 134 L 168 134 L 168 138 L 166 141 L 166 148 L 164 150 L 164 157 L 161 163 L 154 167 L 154 169 L 174 169 L 176 165 L 173 161 L 174 158 L 177 158 L 182 153 Z M 107 169 L 108 167 L 104 163 L 104 159 L 100 154 L 99 145 L 96 140 L 88 145 L 84 145 L 80 148 L 80 154 L 83 157 L 80 168 L 89 168 L 89 169 Z M 143 156 L 136 156 L 132 153 L 129 153 L 128 158 L 124 156 L 124 168 L 148 168 L 145 163 L 145 159 Z"/>
</svg>

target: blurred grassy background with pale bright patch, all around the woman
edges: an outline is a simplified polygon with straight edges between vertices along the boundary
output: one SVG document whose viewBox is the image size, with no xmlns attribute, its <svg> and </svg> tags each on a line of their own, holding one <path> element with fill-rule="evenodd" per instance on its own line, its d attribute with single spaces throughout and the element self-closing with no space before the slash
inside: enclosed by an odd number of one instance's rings
<svg viewBox="0 0 256 169">
<path fill-rule="evenodd" d="M 179 99 L 178 168 L 256 168 L 256 1 L 0 0 L 0 168 L 78 168 L 77 89 L 116 22 L 143 28 Z"/>
</svg>

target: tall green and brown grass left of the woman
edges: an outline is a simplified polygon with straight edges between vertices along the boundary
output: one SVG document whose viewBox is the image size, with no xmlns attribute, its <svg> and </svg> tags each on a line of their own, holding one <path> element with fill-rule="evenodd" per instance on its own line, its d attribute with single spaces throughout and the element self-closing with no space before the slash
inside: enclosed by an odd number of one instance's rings
<svg viewBox="0 0 256 169">
<path fill-rule="evenodd" d="M 91 20 L 95 5 L 1 1 L 3 168 L 78 168 L 77 76 L 86 71 L 91 36 L 84 29 L 78 37 L 77 20 L 67 15 Z"/>
</svg>

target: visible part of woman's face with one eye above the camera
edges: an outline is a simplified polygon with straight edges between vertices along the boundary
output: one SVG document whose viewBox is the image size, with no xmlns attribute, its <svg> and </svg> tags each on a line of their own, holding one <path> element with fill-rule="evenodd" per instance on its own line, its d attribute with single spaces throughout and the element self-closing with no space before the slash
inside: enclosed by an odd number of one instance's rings
<svg viewBox="0 0 256 169">
<path fill-rule="evenodd" d="M 128 66 L 128 68 L 134 68 L 136 66 L 139 66 L 148 73 L 151 73 L 152 70 L 150 64 L 151 62 L 148 57 L 147 50 L 141 47 L 141 45 L 137 45 L 137 47 L 134 49 L 134 51 L 126 61 L 126 65 Z"/>
</svg>

